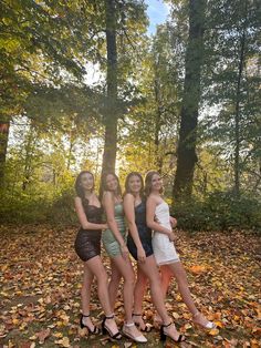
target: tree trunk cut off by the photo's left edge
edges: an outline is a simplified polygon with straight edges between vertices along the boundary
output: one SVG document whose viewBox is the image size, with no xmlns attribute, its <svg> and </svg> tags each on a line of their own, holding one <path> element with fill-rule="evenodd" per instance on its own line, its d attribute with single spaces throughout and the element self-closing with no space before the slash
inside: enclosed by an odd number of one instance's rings
<svg viewBox="0 0 261 348">
<path fill-rule="evenodd" d="M 0 187 L 4 185 L 4 168 L 8 152 L 10 119 L 0 117 Z"/>
</svg>

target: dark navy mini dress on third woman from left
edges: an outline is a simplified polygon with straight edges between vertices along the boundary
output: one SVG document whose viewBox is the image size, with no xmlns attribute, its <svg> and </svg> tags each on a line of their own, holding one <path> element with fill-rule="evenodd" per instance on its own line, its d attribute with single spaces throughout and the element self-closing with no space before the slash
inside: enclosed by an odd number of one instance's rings
<svg viewBox="0 0 261 348">
<path fill-rule="evenodd" d="M 146 203 L 144 201 L 135 206 L 135 223 L 146 257 L 148 257 L 153 255 L 154 252 L 152 244 L 152 229 L 146 225 Z M 127 237 L 127 247 L 132 256 L 137 260 L 137 248 L 130 233 L 128 233 Z"/>
</svg>

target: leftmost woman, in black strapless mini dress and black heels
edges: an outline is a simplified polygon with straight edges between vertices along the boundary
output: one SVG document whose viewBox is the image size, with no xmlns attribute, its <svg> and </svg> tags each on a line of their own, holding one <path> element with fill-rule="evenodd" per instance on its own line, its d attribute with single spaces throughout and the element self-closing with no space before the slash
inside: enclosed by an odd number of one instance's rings
<svg viewBox="0 0 261 348">
<path fill-rule="evenodd" d="M 81 224 L 75 239 L 75 250 L 84 262 L 80 325 L 82 328 L 86 327 L 92 334 L 98 334 L 100 331 L 90 318 L 91 286 L 95 276 L 100 303 L 105 314 L 103 328 L 113 338 L 121 339 L 122 335 L 118 331 L 111 308 L 107 289 L 108 278 L 101 259 L 101 235 L 102 229 L 107 228 L 107 225 L 102 222 L 103 211 L 101 202 L 94 193 L 94 177 L 91 172 L 83 171 L 79 174 L 75 182 L 75 191 L 77 194 L 74 201 L 75 211 Z"/>
</svg>

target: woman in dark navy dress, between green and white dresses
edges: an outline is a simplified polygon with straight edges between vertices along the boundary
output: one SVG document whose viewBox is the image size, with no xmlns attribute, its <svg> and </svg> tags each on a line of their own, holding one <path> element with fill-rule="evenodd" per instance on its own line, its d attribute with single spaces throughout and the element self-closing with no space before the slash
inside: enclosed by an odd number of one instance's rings
<svg viewBox="0 0 261 348">
<path fill-rule="evenodd" d="M 138 278 L 139 274 L 144 274 L 144 277 L 149 279 L 153 303 L 163 320 L 160 328 L 161 340 L 165 340 L 166 336 L 168 336 L 174 341 L 180 342 L 185 340 L 185 337 L 176 330 L 164 304 L 160 277 L 152 246 L 152 229 L 146 225 L 146 202 L 143 190 L 142 175 L 136 172 L 129 173 L 125 181 L 124 195 L 124 212 L 129 228 L 127 246 L 129 253 L 137 260 Z M 138 296 L 139 294 L 135 291 L 135 303 L 139 303 L 140 298 Z M 142 327 L 144 324 L 140 320 L 140 311 L 134 311 L 133 318 L 140 329 L 146 330 L 146 327 Z"/>
</svg>

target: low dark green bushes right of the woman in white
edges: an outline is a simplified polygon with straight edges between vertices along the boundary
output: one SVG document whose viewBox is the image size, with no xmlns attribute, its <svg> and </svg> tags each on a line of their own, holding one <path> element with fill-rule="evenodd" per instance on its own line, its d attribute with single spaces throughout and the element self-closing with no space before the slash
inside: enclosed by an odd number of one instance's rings
<svg viewBox="0 0 261 348">
<path fill-rule="evenodd" d="M 248 194 L 216 191 L 203 201 L 174 204 L 178 227 L 190 231 L 250 229 L 261 232 L 261 202 Z"/>
</svg>

